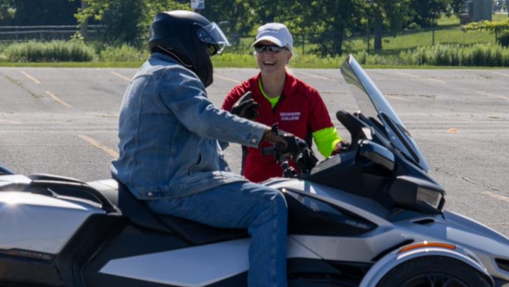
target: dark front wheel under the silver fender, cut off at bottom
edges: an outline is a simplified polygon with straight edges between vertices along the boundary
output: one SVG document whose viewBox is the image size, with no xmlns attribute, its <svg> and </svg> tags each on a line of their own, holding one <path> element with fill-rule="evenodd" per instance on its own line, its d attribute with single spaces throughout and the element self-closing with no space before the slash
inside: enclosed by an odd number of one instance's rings
<svg viewBox="0 0 509 287">
<path fill-rule="evenodd" d="M 403 262 L 383 276 L 377 287 L 491 287 L 468 264 L 443 256 L 419 257 Z"/>
</svg>

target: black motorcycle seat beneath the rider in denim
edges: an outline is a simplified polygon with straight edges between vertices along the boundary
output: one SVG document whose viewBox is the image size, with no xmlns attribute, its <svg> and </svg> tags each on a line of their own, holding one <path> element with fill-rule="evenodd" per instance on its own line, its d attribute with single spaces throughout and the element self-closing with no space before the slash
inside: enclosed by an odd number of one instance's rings
<svg viewBox="0 0 509 287">
<path fill-rule="evenodd" d="M 217 228 L 200 224 L 196 221 L 182 219 L 167 214 L 155 214 L 143 200 L 138 200 L 126 185 L 119 183 L 118 193 L 115 197 L 105 195 L 110 201 L 114 201 L 131 223 L 142 228 L 149 228 L 164 233 L 174 233 L 181 239 L 193 245 L 203 245 L 248 236 L 244 228 Z M 103 193 L 104 194 L 104 193 Z"/>
</svg>

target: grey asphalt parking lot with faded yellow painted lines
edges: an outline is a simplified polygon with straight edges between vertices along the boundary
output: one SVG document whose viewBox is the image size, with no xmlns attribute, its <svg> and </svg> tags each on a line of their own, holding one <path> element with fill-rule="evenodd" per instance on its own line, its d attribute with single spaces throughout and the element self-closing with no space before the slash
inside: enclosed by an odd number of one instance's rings
<svg viewBox="0 0 509 287">
<path fill-rule="evenodd" d="M 109 178 L 118 154 L 122 95 L 136 69 L 0 68 L 0 164 L 17 173 Z M 509 70 L 369 69 L 373 82 L 405 123 L 433 178 L 448 192 L 446 207 L 509 236 Z M 255 69 L 215 69 L 214 104 Z M 337 109 L 357 106 L 339 69 L 295 69 Z M 239 171 L 240 147 L 226 156 Z"/>
</svg>

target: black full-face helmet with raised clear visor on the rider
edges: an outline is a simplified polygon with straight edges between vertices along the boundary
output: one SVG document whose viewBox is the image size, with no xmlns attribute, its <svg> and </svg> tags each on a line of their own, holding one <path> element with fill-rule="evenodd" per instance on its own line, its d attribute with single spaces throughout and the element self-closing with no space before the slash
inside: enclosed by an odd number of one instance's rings
<svg viewBox="0 0 509 287">
<path fill-rule="evenodd" d="M 210 56 L 229 45 L 222 30 L 191 11 L 160 12 L 150 25 L 150 53 L 161 52 L 191 69 L 205 87 L 212 84 Z"/>
</svg>

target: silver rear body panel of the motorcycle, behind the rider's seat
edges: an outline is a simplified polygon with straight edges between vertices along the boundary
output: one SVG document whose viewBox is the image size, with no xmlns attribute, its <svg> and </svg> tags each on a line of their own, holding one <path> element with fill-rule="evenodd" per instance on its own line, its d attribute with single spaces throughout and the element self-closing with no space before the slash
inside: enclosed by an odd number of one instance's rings
<svg viewBox="0 0 509 287">
<path fill-rule="evenodd" d="M 1 176 L 0 185 L 30 183 L 26 176 Z M 0 250 L 51 258 L 92 214 L 104 210 L 92 202 L 20 191 L 0 193 Z"/>
</svg>

